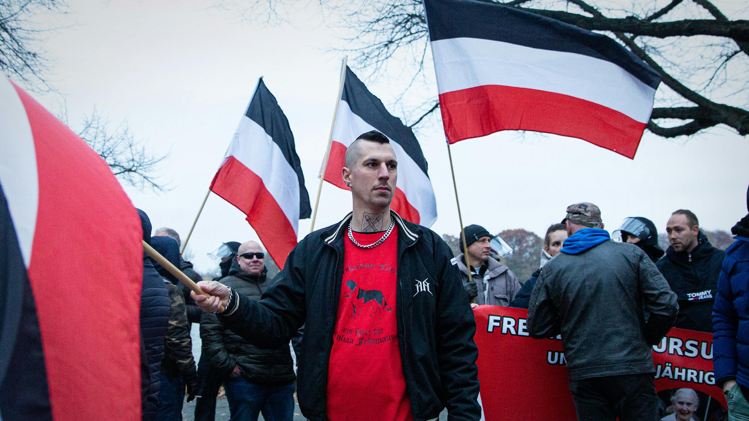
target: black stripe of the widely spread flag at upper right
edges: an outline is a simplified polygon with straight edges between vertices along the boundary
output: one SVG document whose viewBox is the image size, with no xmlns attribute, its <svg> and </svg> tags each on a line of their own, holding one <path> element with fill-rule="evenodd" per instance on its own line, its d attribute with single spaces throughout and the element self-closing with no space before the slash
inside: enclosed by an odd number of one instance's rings
<svg viewBox="0 0 749 421">
<path fill-rule="evenodd" d="M 479 0 L 425 0 L 429 39 L 479 38 L 610 61 L 653 89 L 661 76 L 604 34 L 536 13 Z"/>
</svg>

